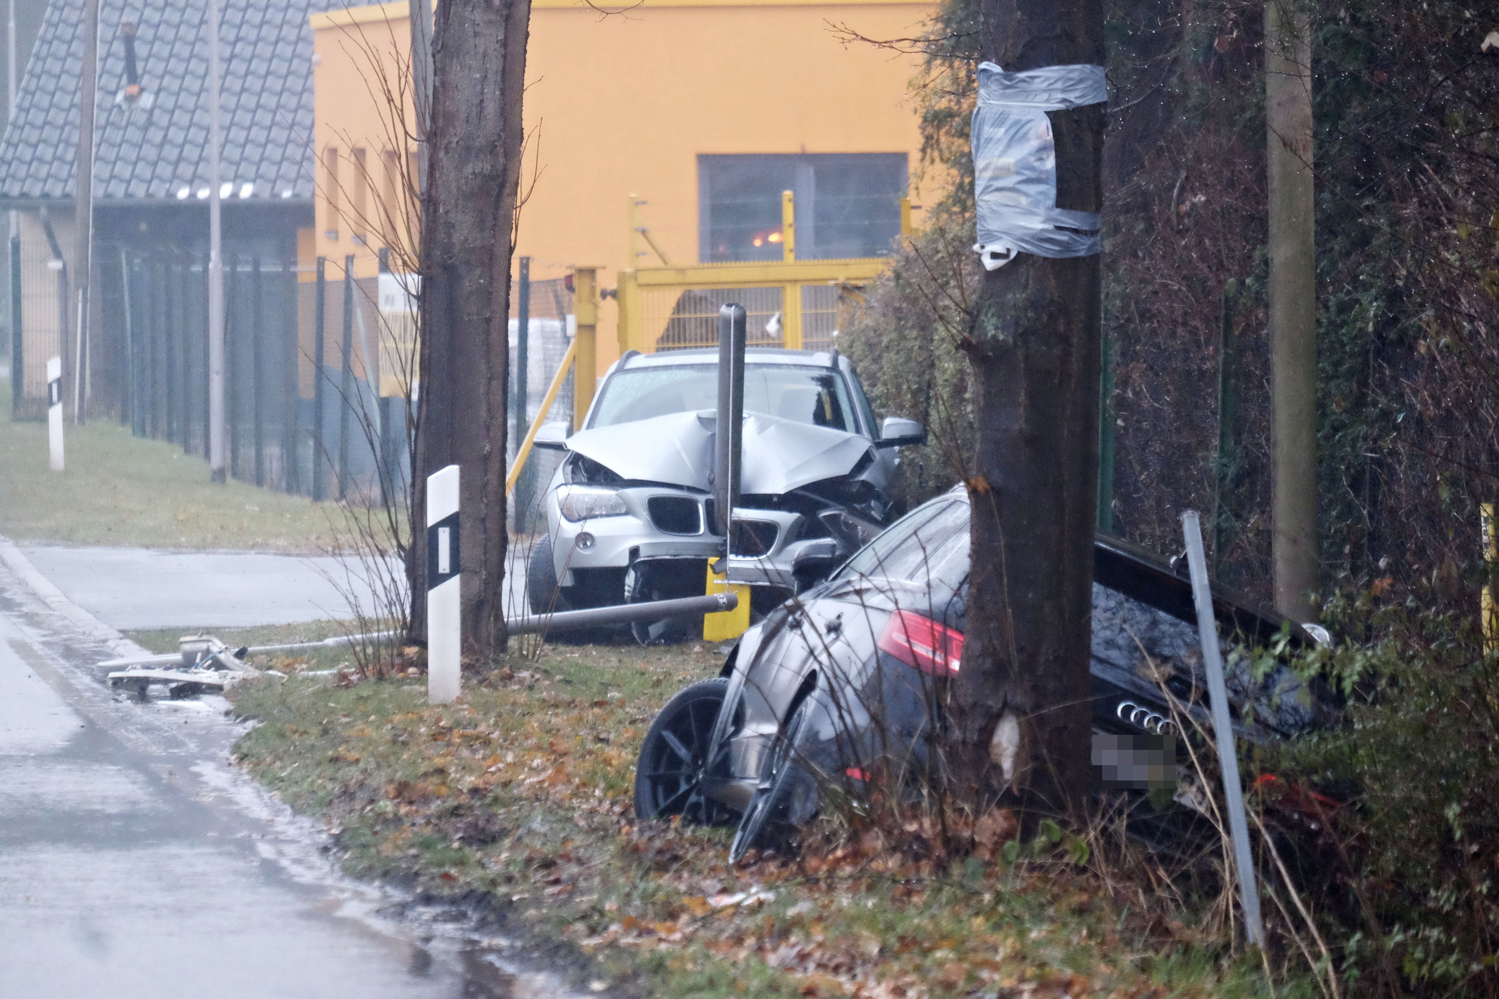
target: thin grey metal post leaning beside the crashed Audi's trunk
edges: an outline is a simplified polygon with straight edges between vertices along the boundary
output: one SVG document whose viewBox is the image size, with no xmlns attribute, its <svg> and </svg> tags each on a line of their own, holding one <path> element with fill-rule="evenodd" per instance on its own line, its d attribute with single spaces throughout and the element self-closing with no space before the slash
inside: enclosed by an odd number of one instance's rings
<svg viewBox="0 0 1499 999">
<path fill-rule="evenodd" d="M 1234 750 L 1234 728 L 1228 716 L 1228 687 L 1223 686 L 1223 653 L 1217 641 L 1213 617 L 1213 589 L 1208 586 L 1208 560 L 1202 553 L 1202 524 L 1198 512 L 1181 515 L 1181 533 L 1187 539 L 1187 569 L 1192 572 L 1192 602 L 1198 607 L 1198 640 L 1202 643 L 1202 665 L 1208 674 L 1208 699 L 1213 702 L 1213 734 L 1219 744 L 1219 767 L 1223 771 L 1223 798 L 1228 804 L 1228 828 L 1234 836 L 1234 864 L 1238 867 L 1238 891 L 1244 905 L 1244 930 L 1255 947 L 1265 945 L 1265 930 L 1259 921 L 1259 885 L 1255 884 L 1255 861 L 1249 854 L 1249 822 L 1244 819 L 1244 791 L 1238 783 L 1238 753 Z"/>
</svg>

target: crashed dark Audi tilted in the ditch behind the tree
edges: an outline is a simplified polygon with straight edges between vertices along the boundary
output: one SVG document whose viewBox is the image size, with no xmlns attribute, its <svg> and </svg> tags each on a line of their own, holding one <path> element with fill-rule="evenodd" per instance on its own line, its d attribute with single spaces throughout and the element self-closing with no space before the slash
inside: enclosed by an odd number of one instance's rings
<svg viewBox="0 0 1499 999">
<path fill-rule="evenodd" d="M 652 723 L 636 771 L 639 816 L 739 824 L 738 860 L 811 819 L 829 786 L 857 797 L 874 773 L 905 785 L 935 776 L 946 680 L 962 664 L 968 548 L 968 497 L 958 487 L 745 632 L 720 677 L 678 692 Z M 806 553 L 806 574 L 815 557 Z M 1306 646 L 1312 634 L 1219 590 L 1214 613 L 1240 738 L 1328 722 L 1333 708 L 1294 672 L 1256 671 L 1244 655 Z M 1091 652 L 1100 786 L 1169 791 L 1168 800 L 1193 809 L 1199 794 L 1178 783 L 1177 732 L 1160 689 L 1207 723 L 1190 583 L 1099 535 Z"/>
</svg>

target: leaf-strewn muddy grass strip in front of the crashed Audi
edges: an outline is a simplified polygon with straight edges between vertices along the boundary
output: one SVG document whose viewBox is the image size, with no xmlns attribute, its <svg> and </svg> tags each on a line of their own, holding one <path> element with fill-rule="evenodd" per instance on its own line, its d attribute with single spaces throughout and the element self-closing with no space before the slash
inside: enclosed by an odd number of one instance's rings
<svg viewBox="0 0 1499 999">
<path fill-rule="evenodd" d="M 274 662 L 295 669 L 295 659 Z M 1252 996 L 1220 927 L 1162 918 L 1051 842 L 938 863 L 829 830 L 726 863 L 732 830 L 639 822 L 655 711 L 712 647 L 547 647 L 429 707 L 426 678 L 292 675 L 231 690 L 237 758 L 333 830 L 346 872 L 492 903 L 595 990 L 687 996 Z M 1007 863 L 1004 858 L 1025 858 Z M 1294 989 L 1291 992 L 1295 992 Z M 1283 989 L 1277 993 L 1285 995 Z"/>
</svg>

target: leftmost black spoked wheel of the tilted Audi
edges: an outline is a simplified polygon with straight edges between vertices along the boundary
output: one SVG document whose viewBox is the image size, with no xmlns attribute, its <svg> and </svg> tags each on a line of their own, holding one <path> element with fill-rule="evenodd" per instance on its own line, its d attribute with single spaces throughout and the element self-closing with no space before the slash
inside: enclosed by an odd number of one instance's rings
<svg viewBox="0 0 1499 999">
<path fill-rule="evenodd" d="M 678 690 L 646 732 L 636 762 L 636 816 L 681 815 L 694 825 L 730 825 L 739 812 L 703 794 L 703 783 L 729 780 L 729 749 L 709 761 L 714 722 L 729 693 L 729 680 L 700 680 Z"/>
</svg>

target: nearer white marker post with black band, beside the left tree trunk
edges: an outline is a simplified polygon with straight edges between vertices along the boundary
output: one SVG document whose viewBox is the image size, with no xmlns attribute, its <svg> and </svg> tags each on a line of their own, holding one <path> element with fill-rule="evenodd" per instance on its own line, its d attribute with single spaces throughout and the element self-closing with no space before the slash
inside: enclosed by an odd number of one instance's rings
<svg viewBox="0 0 1499 999">
<path fill-rule="evenodd" d="M 463 616 L 459 593 L 459 466 L 427 476 L 427 702 L 459 695 Z"/>
</svg>

